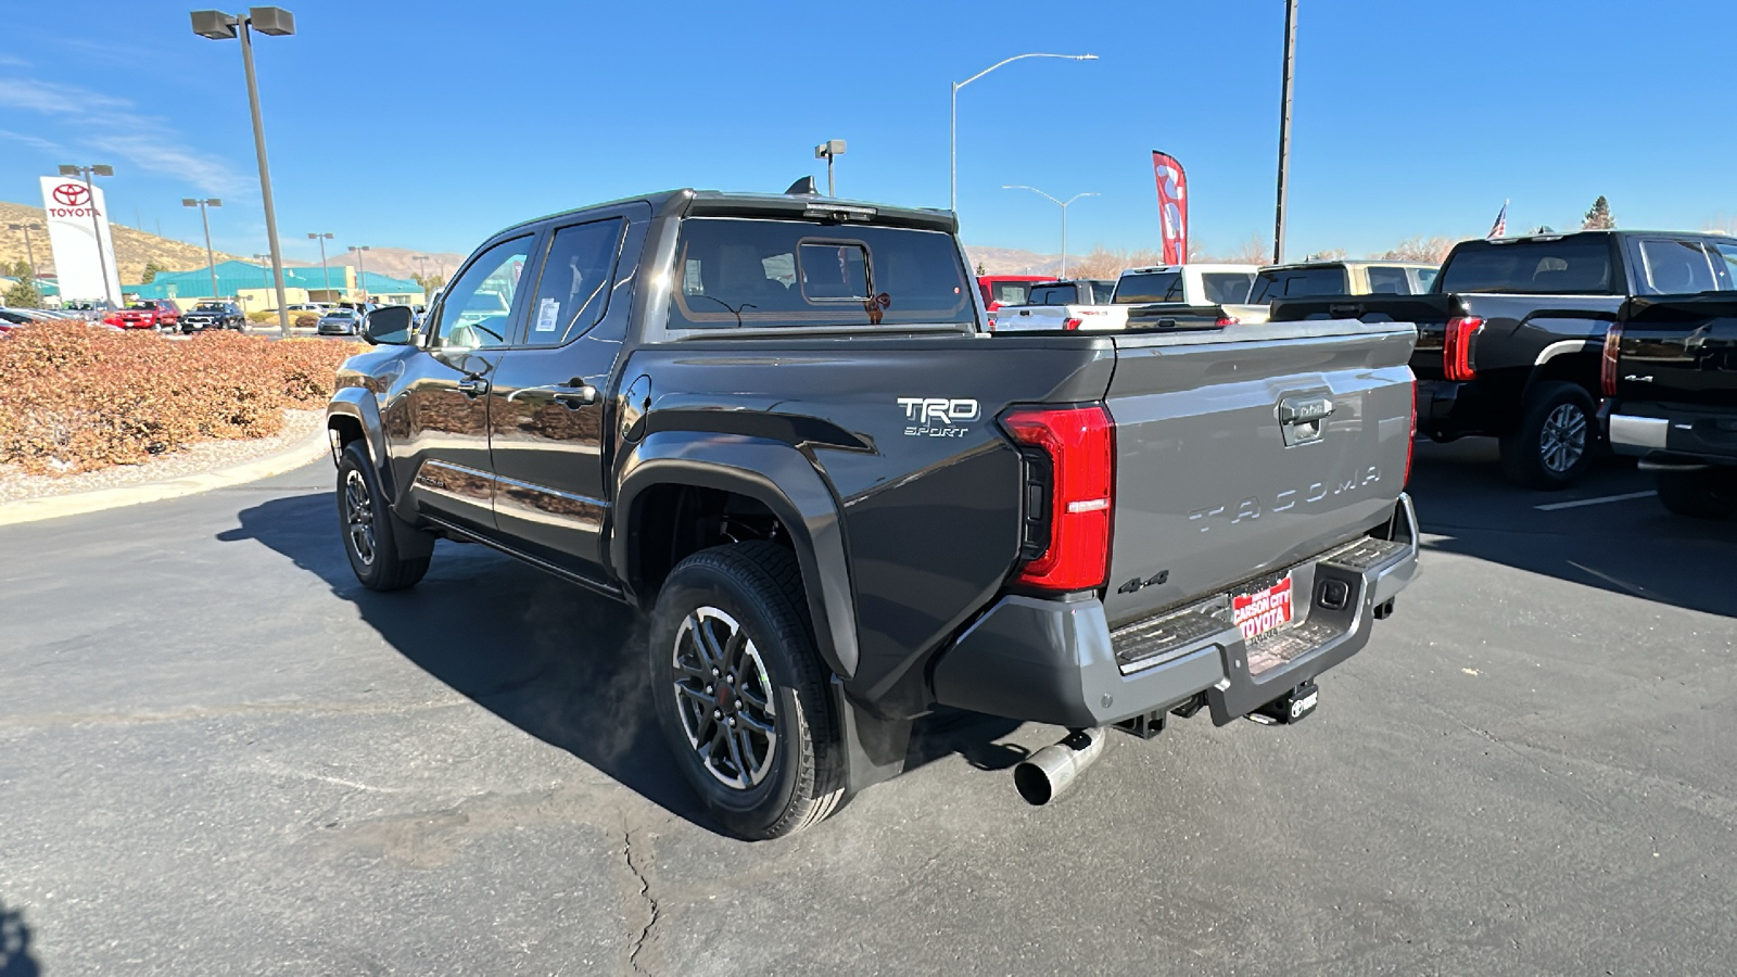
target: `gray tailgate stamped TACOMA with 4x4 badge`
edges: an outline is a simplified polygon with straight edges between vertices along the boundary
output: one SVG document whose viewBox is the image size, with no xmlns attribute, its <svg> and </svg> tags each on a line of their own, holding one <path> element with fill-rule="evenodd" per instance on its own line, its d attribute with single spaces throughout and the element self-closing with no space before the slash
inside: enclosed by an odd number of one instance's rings
<svg viewBox="0 0 1737 977">
<path fill-rule="evenodd" d="M 1259 582 L 1386 522 L 1414 342 L 1409 322 L 1358 320 L 1119 334 L 1110 622 Z"/>
</svg>

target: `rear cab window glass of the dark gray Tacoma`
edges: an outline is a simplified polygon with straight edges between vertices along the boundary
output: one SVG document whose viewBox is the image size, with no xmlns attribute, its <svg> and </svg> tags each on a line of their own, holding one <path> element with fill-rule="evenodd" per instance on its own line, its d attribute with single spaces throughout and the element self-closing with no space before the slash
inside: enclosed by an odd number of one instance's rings
<svg viewBox="0 0 1737 977">
<path fill-rule="evenodd" d="M 676 268 L 672 329 L 976 322 L 971 280 L 941 231 L 693 217 L 681 223 Z"/>
</svg>

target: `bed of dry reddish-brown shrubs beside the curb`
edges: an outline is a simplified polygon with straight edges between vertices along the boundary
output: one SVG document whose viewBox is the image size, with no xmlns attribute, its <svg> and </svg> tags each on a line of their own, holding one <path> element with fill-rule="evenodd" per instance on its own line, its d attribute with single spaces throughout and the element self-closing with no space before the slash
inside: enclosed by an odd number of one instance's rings
<svg viewBox="0 0 1737 977">
<path fill-rule="evenodd" d="M 210 438 L 264 438 L 332 395 L 346 342 L 234 332 L 189 341 L 43 322 L 0 339 L 0 464 L 33 475 L 135 464 Z"/>
</svg>

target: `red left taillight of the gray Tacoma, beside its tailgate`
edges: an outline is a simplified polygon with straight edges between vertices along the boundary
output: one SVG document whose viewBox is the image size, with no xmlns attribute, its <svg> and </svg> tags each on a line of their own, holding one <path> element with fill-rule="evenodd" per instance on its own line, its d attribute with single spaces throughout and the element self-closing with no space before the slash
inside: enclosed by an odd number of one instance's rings
<svg viewBox="0 0 1737 977">
<path fill-rule="evenodd" d="M 1018 582 L 1051 591 L 1101 588 L 1110 574 L 1110 518 L 1115 511 L 1115 422 L 1101 405 L 1020 409 L 1002 426 L 1021 445 L 1042 449 L 1049 461 L 1044 480 L 1028 483 L 1030 525 L 1047 516 L 1047 539 L 1034 553 Z M 1035 522 L 1034 522 L 1035 520 Z"/>
</svg>

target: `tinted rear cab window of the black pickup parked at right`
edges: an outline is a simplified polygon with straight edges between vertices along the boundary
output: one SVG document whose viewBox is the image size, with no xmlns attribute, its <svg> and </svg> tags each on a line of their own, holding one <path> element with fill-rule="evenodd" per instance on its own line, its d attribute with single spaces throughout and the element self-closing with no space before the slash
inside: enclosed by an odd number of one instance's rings
<svg viewBox="0 0 1737 977">
<path fill-rule="evenodd" d="M 1447 256 L 1436 290 L 1608 294 L 1610 242 L 1603 235 L 1509 243 L 1468 242 Z"/>
</svg>

